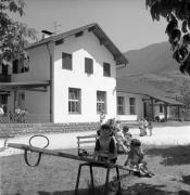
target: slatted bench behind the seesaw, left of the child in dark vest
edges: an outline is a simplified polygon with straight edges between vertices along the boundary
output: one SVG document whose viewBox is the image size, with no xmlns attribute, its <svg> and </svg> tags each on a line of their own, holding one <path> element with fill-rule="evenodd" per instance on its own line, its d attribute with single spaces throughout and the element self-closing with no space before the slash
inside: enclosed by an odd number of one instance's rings
<svg viewBox="0 0 190 195">
<path fill-rule="evenodd" d="M 77 136 L 78 156 L 87 155 L 85 146 L 88 146 L 89 144 L 96 144 L 97 138 L 97 134 Z"/>
</svg>

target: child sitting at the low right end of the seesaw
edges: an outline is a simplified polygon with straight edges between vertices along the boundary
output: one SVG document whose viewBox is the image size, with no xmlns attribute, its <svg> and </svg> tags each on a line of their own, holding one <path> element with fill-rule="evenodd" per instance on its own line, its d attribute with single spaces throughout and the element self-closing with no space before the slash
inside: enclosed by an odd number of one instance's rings
<svg viewBox="0 0 190 195">
<path fill-rule="evenodd" d="M 143 156 L 141 142 L 138 139 L 132 139 L 130 142 L 130 151 L 124 166 L 129 166 L 130 169 L 134 170 L 134 173 L 139 177 L 145 176 L 151 178 L 154 174 L 149 171 L 147 161 L 142 161 Z"/>
</svg>

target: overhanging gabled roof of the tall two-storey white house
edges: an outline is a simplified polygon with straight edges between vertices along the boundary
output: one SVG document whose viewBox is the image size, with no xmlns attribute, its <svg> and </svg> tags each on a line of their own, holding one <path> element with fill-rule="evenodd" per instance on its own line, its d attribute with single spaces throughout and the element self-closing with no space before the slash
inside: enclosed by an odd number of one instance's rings
<svg viewBox="0 0 190 195">
<path fill-rule="evenodd" d="M 117 49 L 117 47 L 111 41 L 111 39 L 105 35 L 105 32 L 101 29 L 101 27 L 97 23 L 92 23 L 92 24 L 83 26 L 80 28 L 75 28 L 69 31 L 65 31 L 63 34 L 51 36 L 38 42 L 31 43 L 27 49 L 36 48 L 38 46 L 48 43 L 50 41 L 58 41 L 60 39 L 67 38 L 69 36 L 76 35 L 84 30 L 92 31 L 98 37 L 98 39 L 100 40 L 100 43 L 103 44 L 113 54 L 114 60 L 116 61 L 117 65 L 128 64 L 128 60 L 126 58 L 126 56 Z"/>
</svg>

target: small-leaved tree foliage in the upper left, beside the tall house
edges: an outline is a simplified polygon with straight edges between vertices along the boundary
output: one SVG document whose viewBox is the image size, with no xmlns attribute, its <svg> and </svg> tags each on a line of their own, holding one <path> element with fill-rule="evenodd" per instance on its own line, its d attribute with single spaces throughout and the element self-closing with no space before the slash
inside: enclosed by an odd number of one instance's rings
<svg viewBox="0 0 190 195">
<path fill-rule="evenodd" d="M 16 13 L 23 16 L 24 5 L 23 0 L 0 0 L 0 64 L 9 64 L 14 58 L 24 61 L 27 39 L 36 39 L 35 29 L 11 18 Z"/>
</svg>

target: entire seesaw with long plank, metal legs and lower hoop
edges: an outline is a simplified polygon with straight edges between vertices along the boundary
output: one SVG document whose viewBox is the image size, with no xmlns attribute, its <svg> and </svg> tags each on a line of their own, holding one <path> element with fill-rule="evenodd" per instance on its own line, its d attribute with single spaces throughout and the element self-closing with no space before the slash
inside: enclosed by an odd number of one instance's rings
<svg viewBox="0 0 190 195">
<path fill-rule="evenodd" d="M 39 156 L 38 156 L 37 162 L 33 167 L 39 165 L 42 154 L 56 156 L 56 157 L 63 157 L 63 158 L 71 158 L 71 159 L 79 160 L 79 161 L 85 161 L 84 164 L 80 164 L 79 168 L 78 168 L 78 176 L 77 176 L 77 181 L 76 181 L 75 195 L 77 195 L 77 192 L 78 192 L 78 184 L 79 184 L 80 171 L 81 171 L 83 166 L 89 166 L 89 168 L 90 168 L 92 194 L 93 194 L 92 167 L 100 167 L 100 168 L 105 168 L 106 169 L 106 179 L 105 179 L 105 188 L 104 188 L 104 194 L 105 195 L 109 194 L 109 176 L 110 176 L 110 170 L 111 169 L 113 169 L 113 168 L 116 169 L 116 174 L 117 174 L 116 178 L 117 178 L 117 182 L 118 182 L 118 193 L 121 193 L 119 169 L 127 170 L 127 171 L 135 171 L 134 169 L 130 169 L 128 167 L 123 167 L 121 165 L 109 164 L 109 162 L 104 162 L 104 161 L 100 161 L 100 160 L 94 160 L 94 159 L 89 158 L 89 157 L 72 155 L 72 154 L 62 153 L 62 152 L 58 152 L 58 151 L 50 151 L 50 150 L 47 150 L 47 148 L 35 147 L 35 146 L 30 146 L 30 145 L 26 145 L 26 144 L 9 143 L 8 147 L 13 147 L 13 148 L 17 148 L 17 150 L 24 150 L 24 158 L 25 158 L 25 161 L 26 161 L 26 164 L 28 166 L 31 166 L 31 165 L 28 162 L 27 152 L 30 151 L 30 152 L 38 153 Z"/>
</svg>

